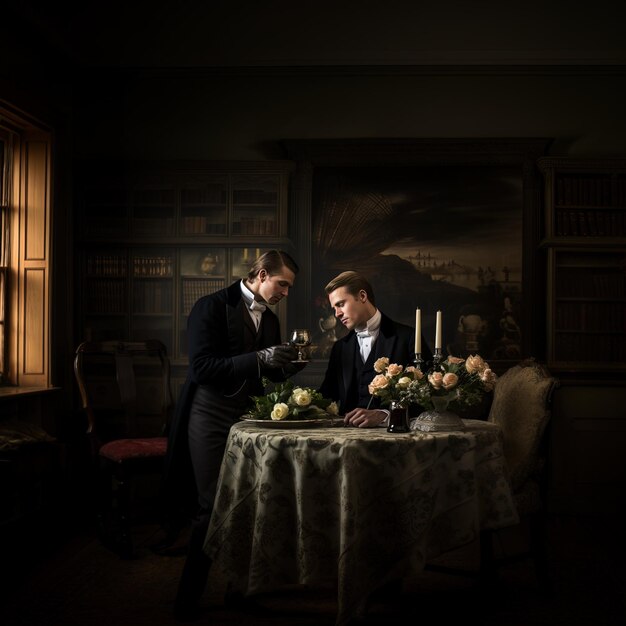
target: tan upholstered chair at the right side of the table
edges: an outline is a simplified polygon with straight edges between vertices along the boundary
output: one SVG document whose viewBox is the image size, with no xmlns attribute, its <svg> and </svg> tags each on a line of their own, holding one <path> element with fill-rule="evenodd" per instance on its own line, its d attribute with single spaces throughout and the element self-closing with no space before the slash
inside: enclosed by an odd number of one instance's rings
<svg viewBox="0 0 626 626">
<path fill-rule="evenodd" d="M 492 578 L 499 566 L 533 558 L 540 589 L 551 589 L 546 551 L 547 449 L 552 394 L 558 386 L 543 365 L 533 359 L 507 370 L 498 380 L 489 421 L 502 429 L 504 456 L 520 521 L 527 524 L 526 548 L 494 554 L 494 538 L 501 531 L 481 535 L 481 568 Z"/>
</svg>

